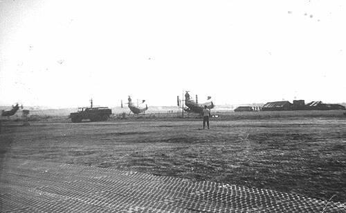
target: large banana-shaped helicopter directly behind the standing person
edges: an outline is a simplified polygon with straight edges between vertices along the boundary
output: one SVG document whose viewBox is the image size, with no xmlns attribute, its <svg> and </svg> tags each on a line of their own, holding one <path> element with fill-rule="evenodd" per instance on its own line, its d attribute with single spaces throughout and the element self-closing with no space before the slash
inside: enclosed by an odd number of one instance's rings
<svg viewBox="0 0 346 213">
<path fill-rule="evenodd" d="M 178 99 L 177 104 L 180 106 L 181 103 L 179 101 L 179 97 L 177 97 L 177 99 Z M 208 100 L 205 103 L 198 103 L 197 95 L 196 95 L 196 100 L 194 101 L 193 99 L 191 99 L 189 91 L 186 91 L 185 93 L 185 105 L 187 107 L 187 108 L 183 108 L 185 112 L 194 112 L 198 114 L 203 114 L 204 105 L 206 105 L 207 108 L 210 110 L 215 107 L 214 103 L 212 103 L 211 97 L 208 97 Z"/>
</svg>

